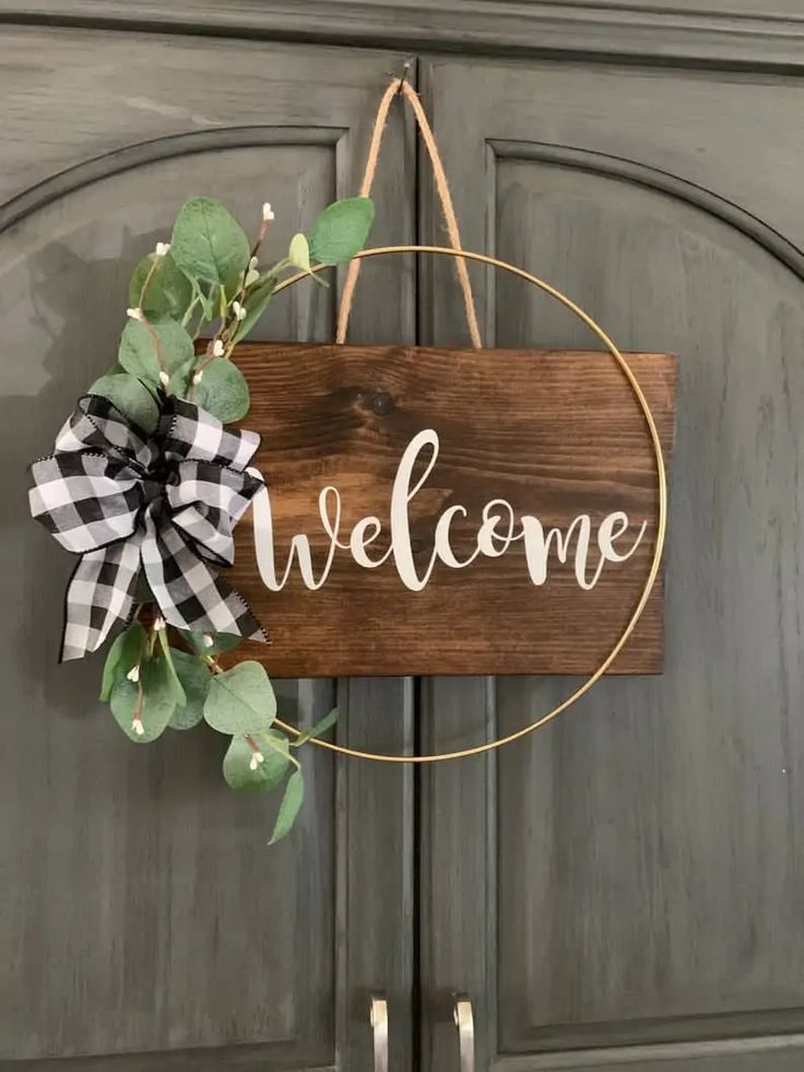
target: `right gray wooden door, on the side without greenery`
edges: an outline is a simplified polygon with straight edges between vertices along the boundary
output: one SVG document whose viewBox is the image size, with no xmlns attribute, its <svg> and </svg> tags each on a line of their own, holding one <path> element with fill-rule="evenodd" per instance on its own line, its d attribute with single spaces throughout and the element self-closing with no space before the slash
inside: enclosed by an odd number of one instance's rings
<svg viewBox="0 0 804 1072">
<path fill-rule="evenodd" d="M 459 990 L 480 1069 L 792 1072 L 804 84 L 588 60 L 422 68 L 466 248 L 552 281 L 620 346 L 679 357 L 664 675 L 610 679 L 498 756 L 423 774 L 424 1068 L 458 1067 Z M 427 333 L 463 339 L 451 268 L 423 272 Z M 591 344 L 519 281 L 474 278 L 487 343 Z M 428 681 L 424 742 L 510 732 L 571 684 Z"/>
</svg>

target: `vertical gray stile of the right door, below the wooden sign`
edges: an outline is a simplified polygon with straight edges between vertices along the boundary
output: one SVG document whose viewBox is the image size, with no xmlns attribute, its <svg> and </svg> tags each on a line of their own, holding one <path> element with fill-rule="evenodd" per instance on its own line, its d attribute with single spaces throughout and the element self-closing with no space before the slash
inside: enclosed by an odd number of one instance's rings
<svg viewBox="0 0 804 1072">
<path fill-rule="evenodd" d="M 452 751 L 493 741 L 494 678 L 422 683 L 421 749 Z M 422 1068 L 457 1068 L 453 993 L 468 993 L 477 1069 L 497 1046 L 497 763 L 488 755 L 421 771 L 419 884 Z"/>
</svg>

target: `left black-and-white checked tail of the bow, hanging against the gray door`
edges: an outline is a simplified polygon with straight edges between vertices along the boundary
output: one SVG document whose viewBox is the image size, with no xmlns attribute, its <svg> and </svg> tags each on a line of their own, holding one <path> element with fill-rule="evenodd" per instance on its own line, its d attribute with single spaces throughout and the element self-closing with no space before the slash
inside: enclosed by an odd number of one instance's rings
<svg viewBox="0 0 804 1072">
<path fill-rule="evenodd" d="M 128 621 L 140 573 L 140 542 L 134 533 L 81 556 L 67 588 L 61 662 L 97 651 L 113 626 Z"/>
</svg>

